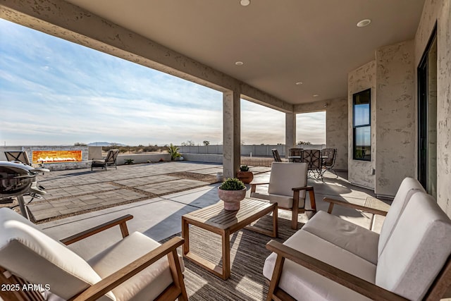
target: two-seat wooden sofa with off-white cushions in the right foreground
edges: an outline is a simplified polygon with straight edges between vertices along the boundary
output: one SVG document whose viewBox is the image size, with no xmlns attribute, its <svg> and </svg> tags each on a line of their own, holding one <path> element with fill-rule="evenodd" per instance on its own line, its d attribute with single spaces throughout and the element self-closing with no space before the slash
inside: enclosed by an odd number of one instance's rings
<svg viewBox="0 0 451 301">
<path fill-rule="evenodd" d="M 450 218 L 413 178 L 400 185 L 380 235 L 319 211 L 266 247 L 267 300 L 439 300 L 451 284 Z"/>
</svg>

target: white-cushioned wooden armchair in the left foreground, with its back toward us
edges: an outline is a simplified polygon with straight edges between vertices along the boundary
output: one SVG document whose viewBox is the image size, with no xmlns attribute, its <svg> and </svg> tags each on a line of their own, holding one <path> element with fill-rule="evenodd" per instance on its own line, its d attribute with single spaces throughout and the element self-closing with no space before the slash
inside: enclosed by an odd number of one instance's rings
<svg viewBox="0 0 451 301">
<path fill-rule="evenodd" d="M 0 281 L 47 285 L 32 291 L 0 292 L 4 300 L 187 300 L 182 238 L 163 245 L 128 234 L 123 216 L 58 242 L 15 211 L 0 208 Z M 89 261 L 66 247 L 107 228 L 120 226 L 123 240 Z"/>
</svg>

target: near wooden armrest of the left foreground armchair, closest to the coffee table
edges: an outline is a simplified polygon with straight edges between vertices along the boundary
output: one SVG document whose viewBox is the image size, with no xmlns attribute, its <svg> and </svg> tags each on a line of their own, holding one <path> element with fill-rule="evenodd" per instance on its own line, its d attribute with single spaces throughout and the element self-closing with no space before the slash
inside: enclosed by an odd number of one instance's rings
<svg viewBox="0 0 451 301">
<path fill-rule="evenodd" d="M 168 242 L 165 242 L 163 243 L 163 245 L 156 247 L 156 249 L 136 259 L 134 262 L 131 262 L 127 266 L 124 266 L 122 269 L 114 272 L 110 276 L 102 279 L 94 285 L 91 285 L 89 288 L 83 291 L 83 293 L 73 298 L 72 300 L 82 301 L 99 299 L 99 297 L 105 295 L 113 288 L 116 288 L 116 286 L 132 278 L 132 276 L 140 273 L 140 271 L 146 269 L 147 266 L 150 266 L 157 260 L 161 259 L 163 256 L 166 256 L 171 252 L 174 254 L 174 256 L 177 256 L 176 249 L 180 247 L 180 245 L 183 245 L 184 242 L 185 240 L 183 238 L 172 238 Z M 178 262 L 178 258 L 175 258 L 175 261 Z"/>
</svg>

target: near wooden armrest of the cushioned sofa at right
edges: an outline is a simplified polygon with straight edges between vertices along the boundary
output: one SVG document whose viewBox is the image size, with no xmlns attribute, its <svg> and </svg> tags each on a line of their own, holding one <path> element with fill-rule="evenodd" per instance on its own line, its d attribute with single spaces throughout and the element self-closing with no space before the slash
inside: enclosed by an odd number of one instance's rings
<svg viewBox="0 0 451 301">
<path fill-rule="evenodd" d="M 351 290 L 354 290 L 359 294 L 369 297 L 372 300 L 407 300 L 400 295 L 392 293 L 389 290 L 385 290 L 384 288 L 365 281 L 362 278 L 337 269 L 335 268 L 335 266 L 321 262 L 321 260 L 310 257 L 309 255 L 283 245 L 276 240 L 271 240 L 270 242 L 268 242 L 268 244 L 266 244 L 266 249 L 270 250 L 271 252 L 276 252 L 278 254 L 278 257 L 281 256 L 285 259 L 289 259 L 292 262 L 304 266 L 305 268 L 314 271 L 315 273 L 318 273 L 321 276 L 324 276 L 332 281 L 335 281 L 336 283 L 340 283 L 341 285 L 350 288 Z M 276 266 L 274 267 L 274 269 L 276 269 Z"/>
</svg>

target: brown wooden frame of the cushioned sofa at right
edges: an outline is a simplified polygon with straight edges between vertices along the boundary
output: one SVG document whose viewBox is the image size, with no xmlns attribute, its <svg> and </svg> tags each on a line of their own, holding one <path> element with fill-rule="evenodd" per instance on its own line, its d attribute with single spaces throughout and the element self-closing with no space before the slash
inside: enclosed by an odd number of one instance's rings
<svg viewBox="0 0 451 301">
<path fill-rule="evenodd" d="M 359 294 L 371 298 L 372 300 L 392 300 L 392 301 L 406 301 L 404 297 L 385 290 L 373 283 L 365 281 L 362 278 L 349 274 L 345 271 L 335 268 L 330 264 L 321 262 L 314 257 L 310 257 L 307 254 L 299 252 L 291 247 L 283 245 L 276 240 L 271 240 L 266 244 L 266 249 L 277 254 L 276 265 L 274 266 L 273 276 L 269 284 L 267 301 L 270 300 L 295 300 L 288 293 L 279 288 L 280 276 L 283 271 L 283 263 L 285 259 L 291 260 L 296 264 L 304 266 L 305 268 L 314 271 L 321 276 L 324 276 L 336 283 L 350 288 Z M 447 288 L 451 285 L 451 256 L 448 257 L 445 265 L 433 281 L 433 284 L 429 288 L 426 296 L 423 300 L 435 301 L 440 300 L 441 297 L 447 292 Z"/>
</svg>

